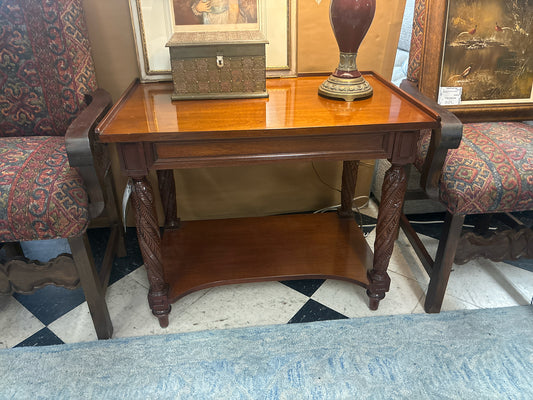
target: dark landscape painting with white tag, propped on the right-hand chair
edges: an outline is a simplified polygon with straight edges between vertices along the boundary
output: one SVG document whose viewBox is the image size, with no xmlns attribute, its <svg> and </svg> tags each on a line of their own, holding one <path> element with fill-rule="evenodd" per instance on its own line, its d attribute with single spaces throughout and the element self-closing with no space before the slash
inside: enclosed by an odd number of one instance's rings
<svg viewBox="0 0 533 400">
<path fill-rule="evenodd" d="M 428 0 L 419 88 L 464 121 L 533 119 L 533 3 Z"/>
</svg>

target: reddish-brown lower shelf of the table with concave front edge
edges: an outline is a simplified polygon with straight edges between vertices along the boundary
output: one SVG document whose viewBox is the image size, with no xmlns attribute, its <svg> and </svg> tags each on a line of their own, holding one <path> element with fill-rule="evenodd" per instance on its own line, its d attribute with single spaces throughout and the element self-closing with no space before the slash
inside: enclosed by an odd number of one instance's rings
<svg viewBox="0 0 533 400">
<path fill-rule="evenodd" d="M 335 213 L 185 221 L 162 238 L 169 301 L 232 283 L 342 279 L 369 284 L 373 253 Z"/>
</svg>

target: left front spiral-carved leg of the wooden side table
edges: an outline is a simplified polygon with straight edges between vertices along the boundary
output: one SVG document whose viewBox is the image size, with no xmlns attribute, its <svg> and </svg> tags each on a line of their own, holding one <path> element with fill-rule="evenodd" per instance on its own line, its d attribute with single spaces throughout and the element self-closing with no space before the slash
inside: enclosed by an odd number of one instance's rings
<svg viewBox="0 0 533 400">
<path fill-rule="evenodd" d="M 146 176 L 133 177 L 133 206 L 137 218 L 137 237 L 150 282 L 148 303 L 162 328 L 168 326 L 170 304 L 168 284 L 163 275 L 161 235 L 154 207 L 154 193 Z"/>
</svg>

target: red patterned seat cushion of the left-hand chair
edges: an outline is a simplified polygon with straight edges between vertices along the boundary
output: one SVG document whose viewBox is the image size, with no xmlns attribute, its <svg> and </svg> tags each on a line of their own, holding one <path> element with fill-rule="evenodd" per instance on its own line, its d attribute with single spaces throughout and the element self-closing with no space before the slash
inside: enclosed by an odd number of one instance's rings
<svg viewBox="0 0 533 400">
<path fill-rule="evenodd" d="M 0 139 L 0 242 L 79 236 L 88 221 L 87 194 L 64 138 Z"/>
</svg>

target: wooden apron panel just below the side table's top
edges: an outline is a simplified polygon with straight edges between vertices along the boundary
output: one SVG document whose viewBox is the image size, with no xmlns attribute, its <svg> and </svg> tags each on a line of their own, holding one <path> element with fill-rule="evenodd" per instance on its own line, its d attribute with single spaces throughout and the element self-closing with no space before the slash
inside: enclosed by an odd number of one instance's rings
<svg viewBox="0 0 533 400">
<path fill-rule="evenodd" d="M 121 167 L 129 176 L 148 170 L 260 164 L 280 161 L 389 159 L 414 161 L 418 132 L 353 135 L 183 140 L 119 143 Z"/>
</svg>

